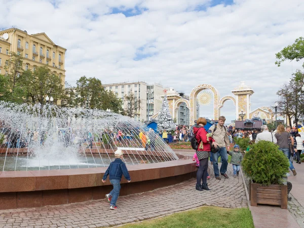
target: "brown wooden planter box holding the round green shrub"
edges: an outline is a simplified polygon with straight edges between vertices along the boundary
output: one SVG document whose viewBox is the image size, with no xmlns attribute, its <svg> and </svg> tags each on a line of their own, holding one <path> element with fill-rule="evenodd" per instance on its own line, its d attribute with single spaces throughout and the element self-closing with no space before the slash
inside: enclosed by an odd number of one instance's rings
<svg viewBox="0 0 304 228">
<path fill-rule="evenodd" d="M 263 186 L 257 183 L 250 183 L 249 200 L 251 206 L 257 204 L 280 205 L 287 209 L 287 185 L 271 184 Z"/>
</svg>

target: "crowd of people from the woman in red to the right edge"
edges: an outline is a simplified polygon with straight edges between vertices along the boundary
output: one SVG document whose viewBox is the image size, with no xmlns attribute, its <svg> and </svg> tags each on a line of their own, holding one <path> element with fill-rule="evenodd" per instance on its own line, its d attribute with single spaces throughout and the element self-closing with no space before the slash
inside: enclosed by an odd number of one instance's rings
<svg viewBox="0 0 304 228">
<path fill-rule="evenodd" d="M 197 140 L 198 148 L 196 150 L 193 161 L 197 161 L 197 166 L 199 167 L 197 172 L 197 191 L 211 191 L 208 187 L 207 177 L 208 174 L 208 160 L 210 158 L 211 165 L 213 165 L 214 175 L 217 180 L 221 179 L 221 176 L 228 179 L 229 176 L 226 174 L 228 166 L 228 154 L 232 156 L 231 164 L 234 170 L 234 177 L 239 176 L 240 165 L 243 160 L 243 156 L 240 153 L 239 145 L 235 144 L 231 150 L 231 142 L 234 142 L 236 138 L 249 138 L 250 143 L 253 144 L 260 140 L 267 140 L 276 143 L 279 146 L 279 150 L 284 153 L 284 155 L 289 160 L 289 168 L 293 175 L 296 175 L 295 167 L 292 164 L 292 157 L 298 164 L 300 161 L 300 154 L 304 152 L 303 139 L 298 133 L 296 128 L 291 128 L 280 124 L 277 129 L 272 132 L 269 131 L 267 125 L 263 125 L 260 131 L 243 131 L 243 130 L 233 130 L 229 132 L 224 126 L 225 117 L 219 117 L 217 125 L 213 125 L 209 128 L 208 132 L 205 130 L 206 125 L 205 118 L 199 118 L 196 125 L 193 127 L 194 136 Z M 211 153 L 211 147 L 217 149 Z M 250 145 L 247 148 L 250 150 Z M 218 158 L 221 157 L 221 166 L 218 167 Z M 289 174 L 288 174 L 289 175 Z M 290 184 L 290 182 L 289 182 Z M 288 187 L 288 193 L 291 187 Z M 291 200 L 291 197 L 288 197 Z"/>
</svg>

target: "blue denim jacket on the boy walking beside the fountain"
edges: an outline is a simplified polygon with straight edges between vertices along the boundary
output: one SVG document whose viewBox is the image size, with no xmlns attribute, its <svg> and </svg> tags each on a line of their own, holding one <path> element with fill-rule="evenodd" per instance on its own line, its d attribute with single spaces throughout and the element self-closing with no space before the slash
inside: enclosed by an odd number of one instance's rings
<svg viewBox="0 0 304 228">
<path fill-rule="evenodd" d="M 107 176 L 109 176 L 109 179 L 116 179 L 121 180 L 122 176 L 125 176 L 127 180 L 131 180 L 130 174 L 127 170 L 126 164 L 119 158 L 115 159 L 113 162 L 110 163 L 109 167 L 105 171 L 102 179 L 106 180 Z"/>
</svg>

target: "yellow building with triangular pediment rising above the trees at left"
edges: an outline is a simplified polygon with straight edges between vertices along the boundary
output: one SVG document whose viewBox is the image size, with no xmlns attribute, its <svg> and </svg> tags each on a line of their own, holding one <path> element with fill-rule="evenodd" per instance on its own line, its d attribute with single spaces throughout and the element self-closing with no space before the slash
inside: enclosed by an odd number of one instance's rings
<svg viewBox="0 0 304 228">
<path fill-rule="evenodd" d="M 64 86 L 66 49 L 54 44 L 46 33 L 30 35 L 18 28 L 0 31 L 0 74 L 9 73 L 5 70 L 5 65 L 8 65 L 11 52 L 23 57 L 24 70 L 48 66 L 52 72 L 59 75 Z"/>
</svg>

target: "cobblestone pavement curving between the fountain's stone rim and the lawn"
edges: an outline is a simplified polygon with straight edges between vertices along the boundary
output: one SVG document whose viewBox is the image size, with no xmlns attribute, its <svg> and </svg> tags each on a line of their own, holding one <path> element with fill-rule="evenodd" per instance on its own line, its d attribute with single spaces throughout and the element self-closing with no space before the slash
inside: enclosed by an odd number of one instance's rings
<svg viewBox="0 0 304 228">
<path fill-rule="evenodd" d="M 195 190 L 196 179 L 118 199 L 118 210 L 103 200 L 60 206 L 0 211 L 0 227 L 106 227 L 171 214 L 203 205 L 247 207 L 242 177 L 216 180 L 209 164 L 211 192 Z"/>
</svg>

